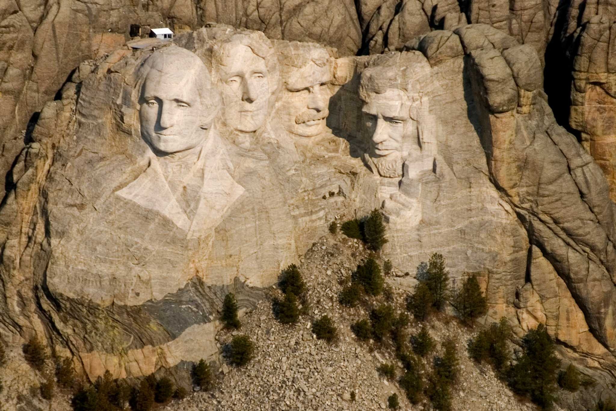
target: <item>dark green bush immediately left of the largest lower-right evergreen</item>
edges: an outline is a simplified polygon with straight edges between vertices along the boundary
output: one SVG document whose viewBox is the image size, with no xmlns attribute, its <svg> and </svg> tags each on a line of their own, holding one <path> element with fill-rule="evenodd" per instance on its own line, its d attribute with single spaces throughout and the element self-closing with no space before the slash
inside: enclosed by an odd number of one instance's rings
<svg viewBox="0 0 616 411">
<path fill-rule="evenodd" d="M 511 327 L 505 317 L 496 324 L 481 330 L 468 343 L 469 356 L 477 362 L 490 362 L 496 373 L 503 375 L 509 365 L 511 353 L 507 348 L 507 340 L 511 337 Z"/>
</svg>

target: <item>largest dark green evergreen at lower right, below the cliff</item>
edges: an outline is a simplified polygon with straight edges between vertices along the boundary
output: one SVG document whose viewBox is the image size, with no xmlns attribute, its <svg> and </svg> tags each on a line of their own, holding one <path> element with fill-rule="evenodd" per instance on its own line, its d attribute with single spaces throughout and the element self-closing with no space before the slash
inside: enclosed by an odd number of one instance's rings
<svg viewBox="0 0 616 411">
<path fill-rule="evenodd" d="M 556 370 L 560 360 L 556 345 L 543 324 L 529 330 L 522 338 L 524 353 L 508 372 L 509 387 L 517 394 L 527 395 L 542 408 L 554 401 Z"/>
</svg>

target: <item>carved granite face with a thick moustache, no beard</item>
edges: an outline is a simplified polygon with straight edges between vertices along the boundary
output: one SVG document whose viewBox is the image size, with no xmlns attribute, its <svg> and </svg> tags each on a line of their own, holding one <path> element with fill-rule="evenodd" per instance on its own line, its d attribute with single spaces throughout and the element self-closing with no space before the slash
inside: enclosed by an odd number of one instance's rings
<svg viewBox="0 0 616 411">
<path fill-rule="evenodd" d="M 278 113 L 285 129 L 302 137 L 315 137 L 326 130 L 330 114 L 331 66 L 314 62 L 294 70 L 286 79 Z"/>
</svg>

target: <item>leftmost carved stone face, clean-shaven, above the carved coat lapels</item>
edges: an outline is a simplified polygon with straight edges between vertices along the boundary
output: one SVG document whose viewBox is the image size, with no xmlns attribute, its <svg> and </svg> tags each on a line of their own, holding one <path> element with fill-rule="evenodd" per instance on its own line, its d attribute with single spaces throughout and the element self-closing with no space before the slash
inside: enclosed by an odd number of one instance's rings
<svg viewBox="0 0 616 411">
<path fill-rule="evenodd" d="M 200 97 L 198 60 L 178 63 L 177 56 L 153 55 L 155 60 L 141 90 L 139 122 L 141 136 L 157 154 L 190 150 L 206 137 Z M 203 68 L 205 70 L 205 66 Z"/>
</svg>

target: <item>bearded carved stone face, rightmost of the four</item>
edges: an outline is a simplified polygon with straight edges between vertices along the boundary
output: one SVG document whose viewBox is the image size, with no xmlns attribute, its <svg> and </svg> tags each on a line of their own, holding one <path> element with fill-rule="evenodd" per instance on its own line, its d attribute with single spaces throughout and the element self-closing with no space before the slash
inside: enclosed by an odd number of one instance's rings
<svg viewBox="0 0 616 411">
<path fill-rule="evenodd" d="M 370 158 L 379 174 L 400 177 L 402 163 L 413 139 L 413 120 L 407 95 L 399 89 L 370 93 L 362 112 L 370 138 Z"/>
</svg>

